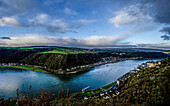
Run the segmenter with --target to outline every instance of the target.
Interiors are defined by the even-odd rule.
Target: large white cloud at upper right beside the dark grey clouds
[[[128,26],[124,32],[119,34],[120,36],[124,36],[124,38],[138,36],[162,27],[150,15],[145,14],[145,10],[141,10],[140,6],[141,4],[137,4],[123,8],[116,12],[116,16],[108,20],[116,27]]]

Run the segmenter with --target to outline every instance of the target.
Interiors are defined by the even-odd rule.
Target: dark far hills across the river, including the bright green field
[[[120,53],[125,53],[120,55]],[[143,57],[165,58],[162,52],[137,52],[113,49],[80,49],[64,47],[20,47],[1,48],[0,63],[27,63],[39,65],[48,69],[66,69],[79,65],[92,64],[103,57]]]

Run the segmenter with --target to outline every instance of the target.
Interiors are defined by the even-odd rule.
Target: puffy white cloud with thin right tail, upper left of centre
[[[67,21],[66,23],[62,19],[53,18],[47,14],[38,14],[35,18],[30,19],[29,22],[31,26],[43,27],[52,33],[77,33],[74,31],[75,29],[96,22],[96,20],[80,19],[76,21]]]

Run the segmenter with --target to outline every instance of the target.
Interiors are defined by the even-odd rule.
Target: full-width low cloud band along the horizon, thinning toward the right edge
[[[136,45],[123,44],[120,42],[123,41],[124,38],[120,36],[90,36],[87,38],[76,39],[27,34],[23,37],[10,37],[10,39],[11,40],[0,39],[0,46],[142,47],[170,49],[170,43]]]

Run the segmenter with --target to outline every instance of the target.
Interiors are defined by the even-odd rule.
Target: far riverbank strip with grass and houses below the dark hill
[[[121,58],[110,58],[110,57],[107,57],[107,58],[109,58],[109,60],[106,60],[106,58],[103,58],[104,60],[101,60],[94,64],[72,67],[72,68],[66,69],[66,70],[47,69],[46,67],[28,65],[28,64],[23,64],[23,63],[1,63],[0,67],[11,67],[11,68],[26,69],[26,70],[51,73],[51,74],[66,74],[66,75],[68,75],[68,74],[77,74],[77,73],[89,71],[90,69],[92,69],[94,67],[101,66],[104,64],[108,64],[108,63],[117,63],[117,62],[124,61],[124,60],[136,59],[136,58],[122,58],[121,59]]]

